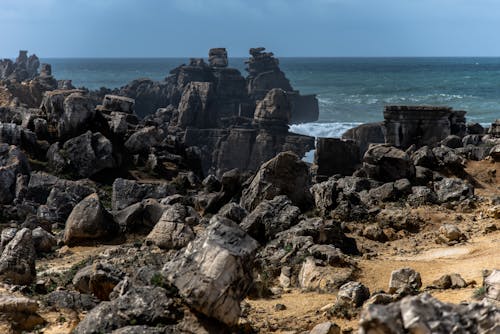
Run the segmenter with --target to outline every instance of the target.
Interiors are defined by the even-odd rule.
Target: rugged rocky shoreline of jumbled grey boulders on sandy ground
[[[0,61],[0,331],[497,333],[495,256],[482,282],[424,286],[404,261],[383,291],[367,275],[483,236],[494,250],[500,119],[387,106],[315,139],[289,125],[317,120],[316,97],[264,48],[247,65],[217,48],[163,81],[89,91],[25,51]],[[474,286],[478,301],[434,296]],[[259,301],[296,291],[333,301],[312,323],[262,320]]]

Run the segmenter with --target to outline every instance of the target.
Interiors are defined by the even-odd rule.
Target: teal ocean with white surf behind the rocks
[[[230,66],[246,76],[246,58]],[[116,88],[136,78],[163,80],[188,58],[42,59],[57,79],[77,87]],[[302,94],[317,94],[320,117],[292,125],[296,133],[338,137],[381,121],[385,105],[444,105],[467,111],[467,120],[500,118],[500,58],[280,58],[281,69]]]

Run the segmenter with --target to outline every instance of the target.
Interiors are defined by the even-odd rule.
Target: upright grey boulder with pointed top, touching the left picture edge
[[[29,285],[36,277],[36,251],[31,231],[23,228],[7,244],[0,257],[0,280]]]

